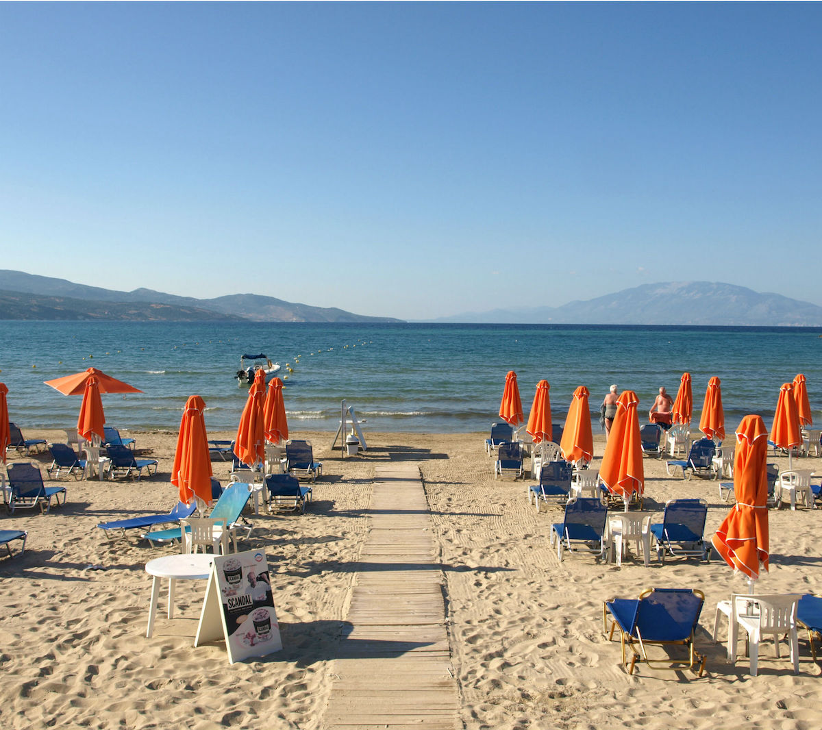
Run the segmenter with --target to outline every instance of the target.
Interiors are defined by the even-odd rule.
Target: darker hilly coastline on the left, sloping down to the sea
[[[0,270],[0,320],[159,320],[399,322],[336,307],[311,307],[259,294],[213,299],[135,289],[122,292],[64,279]]]

